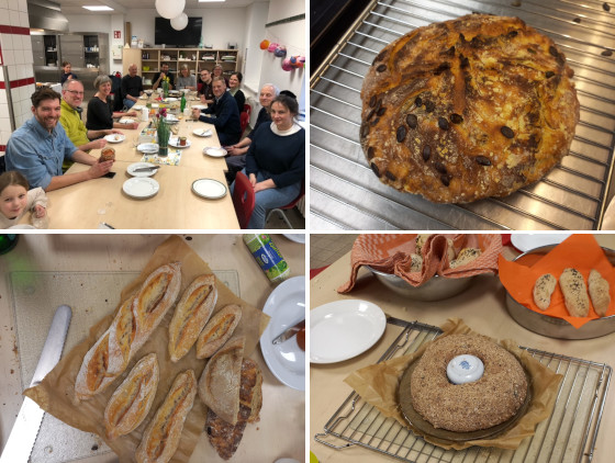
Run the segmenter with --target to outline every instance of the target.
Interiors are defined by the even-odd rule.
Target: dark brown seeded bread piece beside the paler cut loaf
[[[211,409],[205,420],[205,432],[217,454],[228,460],[237,451],[244,437],[246,424],[259,420],[262,405],[262,375],[255,361],[244,359],[239,387],[239,414],[237,422],[230,425]]]

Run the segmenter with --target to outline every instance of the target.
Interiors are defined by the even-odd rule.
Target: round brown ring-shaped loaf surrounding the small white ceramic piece
[[[457,355],[478,357],[482,377],[452,384],[447,365]],[[433,341],[411,376],[414,409],[435,428],[470,432],[512,418],[524,404],[527,380],[519,361],[506,349],[478,335],[450,335]]]

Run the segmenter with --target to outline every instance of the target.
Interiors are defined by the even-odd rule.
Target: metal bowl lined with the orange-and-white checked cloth
[[[452,279],[434,275],[421,286],[413,286],[395,274],[384,273],[369,266],[366,267],[382,282],[382,284],[384,284],[384,286],[402,296],[415,301],[441,301],[455,296],[466,290],[474,278],[466,276]]]

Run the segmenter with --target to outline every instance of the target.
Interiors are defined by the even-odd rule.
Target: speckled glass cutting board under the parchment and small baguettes
[[[231,291],[239,295],[239,279],[236,270],[213,272]],[[19,271],[9,273],[22,391],[32,381],[55,309],[62,304],[72,309],[64,347],[66,353],[88,336],[92,325],[118,306],[121,289],[139,273]],[[110,292],[109,289],[116,289],[116,291]],[[113,454],[97,434],[80,431],[45,414],[30,462],[71,462],[105,453]]]

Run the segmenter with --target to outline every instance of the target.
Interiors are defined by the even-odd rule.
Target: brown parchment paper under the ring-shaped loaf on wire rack
[[[476,334],[459,318],[449,318],[441,326],[444,330],[440,336],[454,334]],[[462,450],[472,445],[497,447],[501,449],[516,449],[523,439],[534,434],[536,426],[548,418],[554,409],[562,375],[555,373],[543,365],[532,355],[519,349],[513,340],[492,341],[508,350],[527,369],[532,377],[532,403],[526,414],[504,433],[494,439],[482,439],[467,442],[451,442],[425,436],[410,425],[403,417],[398,402],[398,385],[403,372],[410,363],[421,357],[425,349],[433,342],[425,342],[421,348],[409,355],[398,357],[376,365],[366,366],[351,373],[344,381],[350,385],[368,404],[377,407],[384,416],[396,419],[402,426],[409,428],[417,436],[422,436],[427,442],[444,449]],[[407,392],[410,393],[410,392]]]

